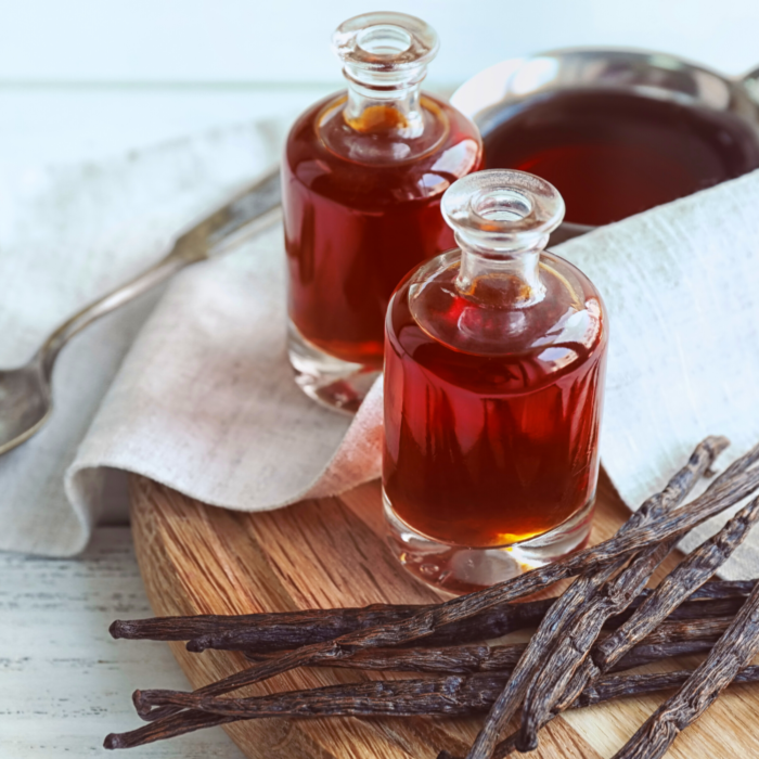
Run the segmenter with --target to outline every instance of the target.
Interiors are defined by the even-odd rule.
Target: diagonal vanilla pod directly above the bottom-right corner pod
[[[651,632],[683,599],[687,597],[692,590],[706,582],[744,541],[758,518],[759,499],[755,499],[730,519],[717,535],[685,556],[645,599],[632,617],[615,633],[602,641],[592,658],[584,661],[582,660],[584,657],[579,652],[587,652],[588,646],[586,639],[578,633],[571,641],[574,655],[568,654],[565,662],[551,662],[540,673],[540,686],[536,681],[535,697],[525,702],[517,741],[519,750],[535,749],[538,744],[538,731],[562,710],[561,705],[574,702],[575,696],[592,681],[594,673],[608,671],[625,652]],[[563,677],[553,677],[558,669],[562,670]],[[578,680],[573,682],[575,677],[578,677]],[[555,708],[556,706],[558,709]]]

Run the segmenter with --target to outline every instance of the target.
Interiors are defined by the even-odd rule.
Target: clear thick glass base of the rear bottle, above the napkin
[[[355,414],[381,371],[375,366],[343,361],[309,343],[290,322],[287,355],[298,387],[318,403]]]

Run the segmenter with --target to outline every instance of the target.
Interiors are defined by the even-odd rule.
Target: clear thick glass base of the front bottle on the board
[[[584,548],[590,537],[595,494],[573,517],[537,538],[512,545],[469,549],[438,543],[411,529],[394,512],[383,490],[387,541],[403,567],[437,590],[454,595],[510,580]]]

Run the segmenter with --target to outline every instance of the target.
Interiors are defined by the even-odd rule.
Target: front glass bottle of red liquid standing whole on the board
[[[465,592],[586,543],[607,326],[593,284],[543,249],[564,216],[552,184],[480,171],[442,215],[459,248],[387,312],[383,491],[400,561]]]

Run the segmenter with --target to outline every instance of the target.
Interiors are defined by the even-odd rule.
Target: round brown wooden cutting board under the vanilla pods
[[[382,539],[377,484],[342,498],[275,512],[242,514],[193,501],[133,476],[132,526],[138,561],[156,615],[427,603],[439,596],[409,577]],[[602,476],[592,540],[612,535],[628,511]],[[677,563],[670,557],[666,570]],[[662,570],[664,571],[664,570]],[[170,644],[194,687],[242,669],[242,655],[189,654]],[[697,658],[648,671],[694,667]],[[249,695],[389,678],[381,672],[301,669],[248,689]],[[146,682],[145,687],[162,687]],[[648,696],[568,712],[541,732],[541,759],[610,757],[664,700]],[[735,686],[674,743],[669,759],[759,757],[759,687]],[[224,728],[250,759],[435,759],[463,755],[476,719],[267,719]],[[137,726],[137,724],[136,724]],[[176,738],[177,754],[182,738]],[[139,749],[138,749],[139,750]]]

